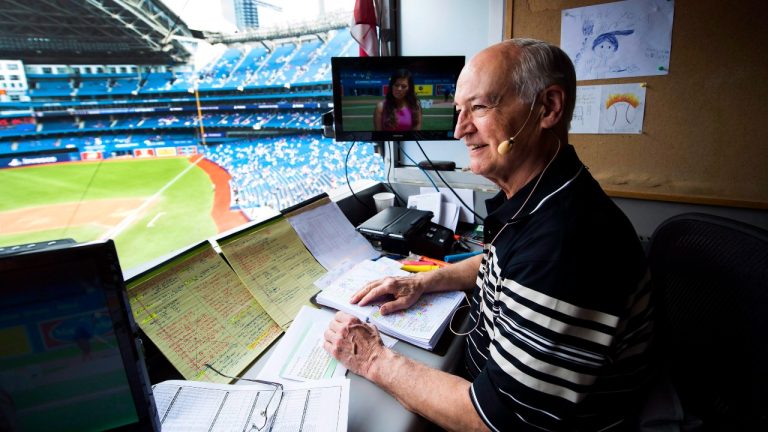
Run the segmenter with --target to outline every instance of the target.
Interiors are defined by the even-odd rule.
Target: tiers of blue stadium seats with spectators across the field
[[[319,134],[327,109],[318,102],[331,96],[330,58],[356,55],[353,47],[349,31],[341,29],[323,38],[230,47],[197,71],[35,76],[30,107],[67,111],[3,127],[0,155],[66,149],[74,159],[202,153],[231,174],[232,206],[248,215],[264,206],[289,207],[344,185],[347,176],[382,180],[383,161],[371,146],[355,146],[345,172],[348,146]],[[212,137],[208,145],[199,138],[190,94],[195,86]]]

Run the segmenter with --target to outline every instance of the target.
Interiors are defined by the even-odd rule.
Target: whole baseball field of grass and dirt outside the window
[[[123,270],[247,222],[206,159],[110,159],[0,170],[0,245],[112,238]]]

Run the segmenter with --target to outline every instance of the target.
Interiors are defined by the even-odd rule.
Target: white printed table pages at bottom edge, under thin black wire
[[[347,430],[347,379],[286,385],[282,393],[262,384],[175,380],[152,391],[163,432]]]

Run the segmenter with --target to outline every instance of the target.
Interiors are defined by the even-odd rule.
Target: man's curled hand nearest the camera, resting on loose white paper
[[[352,372],[369,378],[371,366],[386,349],[376,326],[337,312],[323,334],[323,348]]]

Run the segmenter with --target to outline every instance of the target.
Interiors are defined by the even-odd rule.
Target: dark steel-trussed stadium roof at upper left
[[[160,0],[3,0],[0,58],[25,63],[176,64],[187,25]]]

